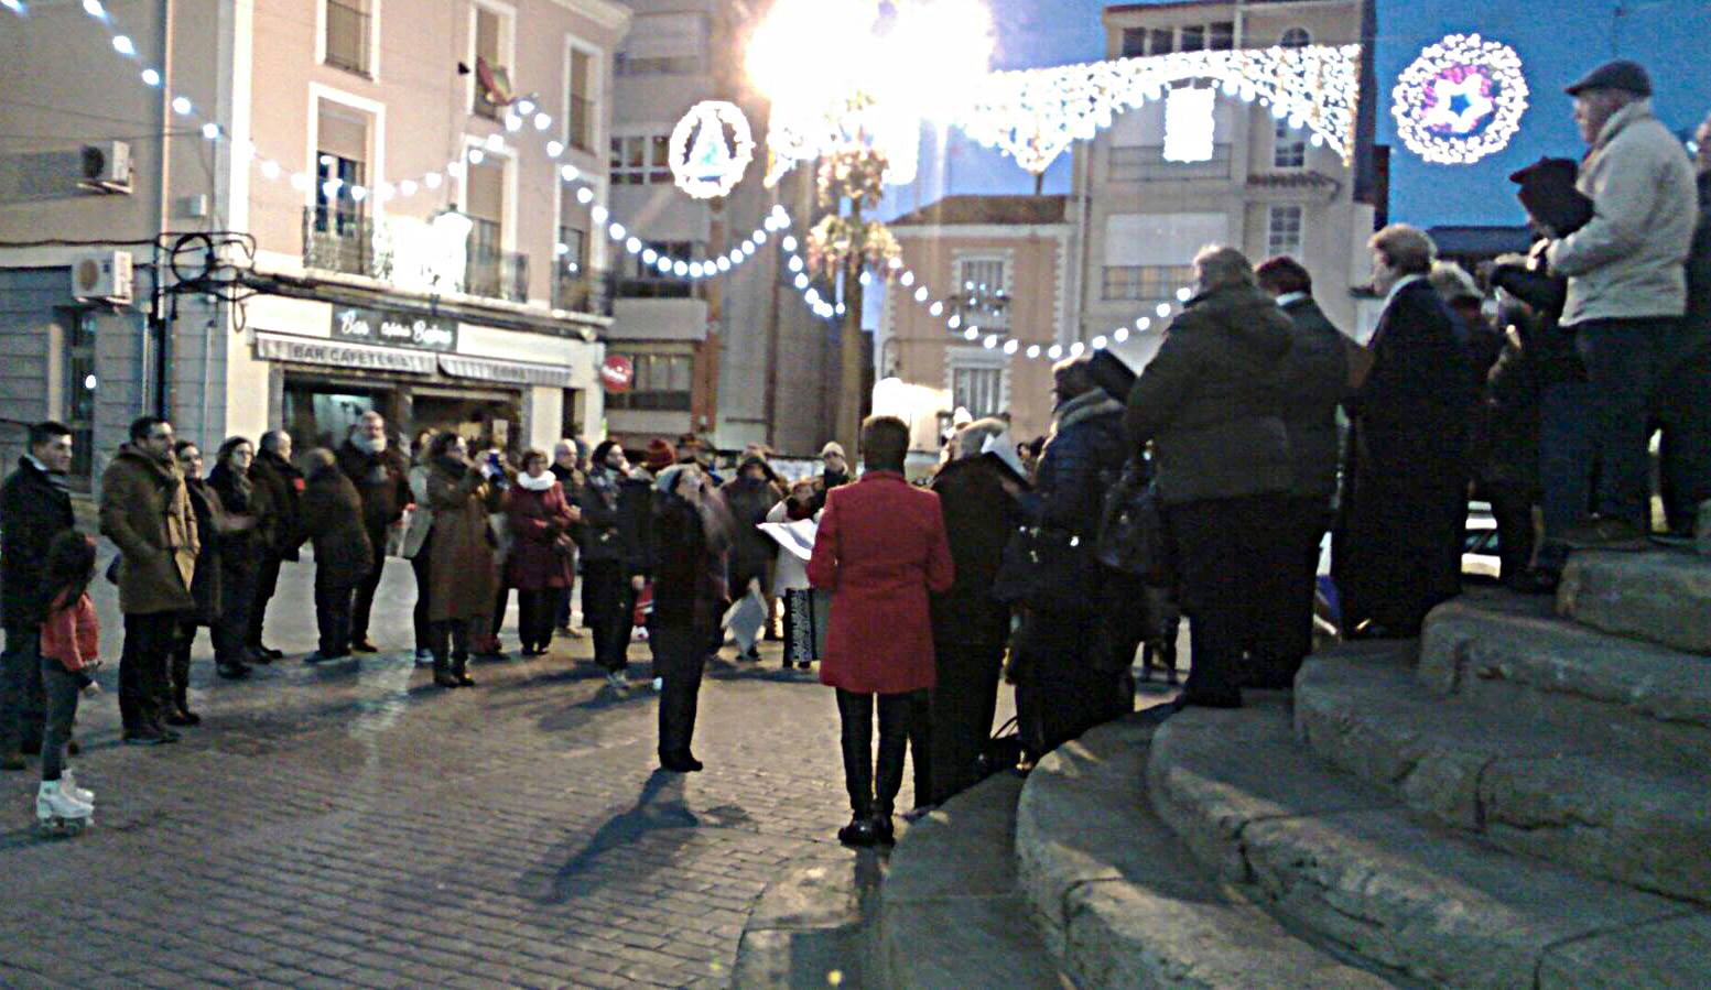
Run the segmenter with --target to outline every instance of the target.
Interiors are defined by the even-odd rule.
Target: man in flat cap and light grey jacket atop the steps
[[[1591,149],[1578,188],[1593,200],[1593,217],[1572,234],[1555,231],[1547,258],[1569,279],[1562,327],[1574,333],[1588,383],[1572,431],[1579,450],[1542,463],[1545,533],[1555,554],[1643,549],[1651,523],[1648,404],[1687,308],[1694,169],[1651,113],[1651,79],[1637,63],[1600,65],[1567,92]]]

